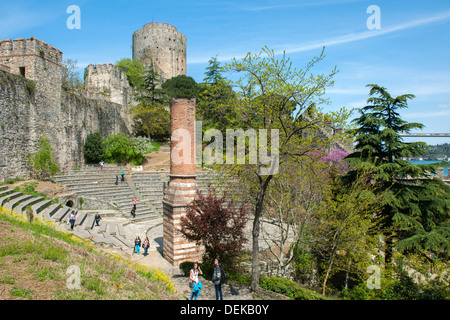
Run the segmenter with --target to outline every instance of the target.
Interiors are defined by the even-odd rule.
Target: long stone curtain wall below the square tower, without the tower
[[[58,103],[39,92],[37,82],[0,70],[0,182],[29,178],[27,154],[45,135],[63,173],[84,163],[83,144],[90,132],[103,137],[127,132],[121,105],[88,99],[60,89]]]

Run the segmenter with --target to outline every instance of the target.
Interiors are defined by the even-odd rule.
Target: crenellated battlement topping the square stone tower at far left
[[[17,38],[15,40],[5,39],[0,41],[0,57],[15,58],[35,56],[55,64],[62,64],[62,52],[44,41],[35,37],[28,39]]]

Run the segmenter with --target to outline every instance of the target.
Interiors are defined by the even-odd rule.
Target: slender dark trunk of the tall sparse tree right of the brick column
[[[255,218],[253,220],[252,230],[252,283],[251,290],[253,292],[259,289],[259,231],[260,219],[263,211],[264,196],[266,194],[267,186],[273,176],[267,176],[265,179],[260,178],[260,187],[256,196],[255,204]]]

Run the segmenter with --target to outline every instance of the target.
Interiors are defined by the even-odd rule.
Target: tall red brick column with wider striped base
[[[170,101],[170,179],[163,197],[163,256],[174,266],[200,261],[203,249],[180,232],[186,206],[197,192],[195,165],[195,99]]]

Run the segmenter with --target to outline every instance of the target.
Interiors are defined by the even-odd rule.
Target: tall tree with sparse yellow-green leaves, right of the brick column
[[[278,58],[273,50],[265,47],[260,54],[249,53],[240,61],[233,59],[223,68],[224,72],[243,74],[233,84],[240,90],[234,103],[239,112],[238,118],[242,119],[241,128],[268,129],[269,132],[271,129],[278,130],[278,137],[274,136],[275,140],[271,139],[266,148],[277,149],[276,141],[279,141],[279,159],[273,161],[273,167],[268,168],[267,162],[261,161],[261,158],[256,164],[231,166],[233,174],[239,176],[240,189],[248,195],[245,200],[252,206],[253,291],[259,286],[260,219],[264,213],[267,189],[276,175],[275,166],[288,166],[290,162],[298,161],[328,143],[328,139],[304,134],[318,130],[327,117],[317,112],[318,108],[310,108],[327,103],[327,99],[323,98],[325,88],[333,84],[332,78],[337,72],[333,70],[330,74],[310,75],[310,69],[323,58],[322,51],[305,69],[297,70],[285,55]],[[306,110],[310,112],[308,119],[302,117]],[[227,159],[227,162],[233,162],[233,159]],[[225,165],[220,169],[228,170]]]

